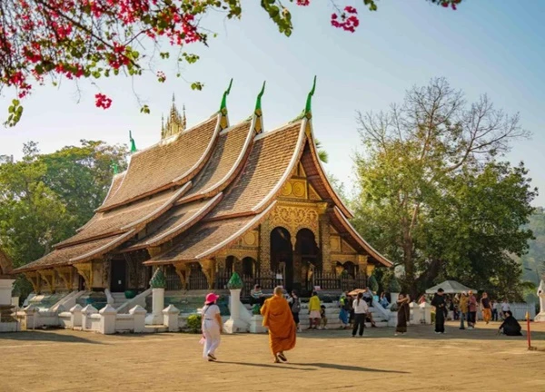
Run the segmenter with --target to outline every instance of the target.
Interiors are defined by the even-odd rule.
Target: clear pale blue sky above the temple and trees
[[[272,129],[301,112],[317,74],[314,131],[330,154],[327,170],[350,188],[352,156],[360,144],[356,111],[387,110],[411,85],[445,76],[469,101],[488,93],[497,107],[520,112],[521,125],[533,136],[515,142],[507,159],[526,163],[533,184],[542,190],[535,204],[545,205],[545,2],[464,0],[451,11],[424,0],[384,0],[376,13],[366,11],[361,0],[337,2],[358,6],[361,25],[355,34],[329,25],[332,6],[325,0],[293,7],[290,38],[277,32],[257,1],[243,2],[241,21],[207,17],[203,25],[219,36],[209,48],[188,46],[202,59],[183,69],[187,81],[205,83],[202,92],[175,78],[175,64],[162,60],[154,67],[167,74],[166,83],[157,83],[153,73],[134,81],[101,79],[98,86],[83,82],[79,103],[70,81],[60,89],[38,87],[24,102],[23,120],[0,129],[0,154],[19,158],[22,144],[30,140],[39,142],[42,152],[80,139],[126,143],[129,130],[137,147],[144,148],[159,140],[161,113],[168,113],[173,93],[180,106],[185,103],[189,124],[195,124],[218,110],[232,77],[231,122],[252,113],[266,80],[263,113],[265,128]],[[114,100],[111,109],[94,107],[99,90]],[[134,91],[151,114],[139,113]],[[11,99],[7,93],[0,97],[2,111]]]

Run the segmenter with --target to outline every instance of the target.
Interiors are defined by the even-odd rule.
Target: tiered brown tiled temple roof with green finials
[[[264,132],[263,90],[253,116],[233,126],[227,93],[218,113],[187,130],[185,115],[182,126],[173,108],[170,131],[163,126],[161,142],[133,154],[94,217],[51,253],[15,272],[74,265],[168,241],[172,246],[144,264],[213,257],[266,219],[298,164],[316,198],[327,203],[342,238],[372,262],[391,266],[352,228],[352,213],[327,180],[312,134],[310,103],[300,119]]]

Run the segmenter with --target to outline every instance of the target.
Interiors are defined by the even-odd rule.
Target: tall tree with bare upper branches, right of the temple
[[[526,250],[531,233],[520,225],[537,193],[523,166],[496,162],[529,136],[518,114],[495,109],[486,95],[468,105],[440,78],[413,87],[389,113],[359,113],[359,125],[365,153],[356,157],[354,223],[403,267],[412,296],[440,276],[484,284],[475,274],[500,276],[500,267],[486,270],[491,259],[505,267],[506,252]]]

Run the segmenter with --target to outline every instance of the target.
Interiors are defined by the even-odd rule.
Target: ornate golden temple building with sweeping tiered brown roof
[[[391,266],[352,227],[312,132],[312,92],[302,115],[263,127],[253,114],[231,124],[220,110],[191,128],[175,108],[161,141],[134,152],[103,204],[77,233],[15,273],[36,293],[143,291],[162,268],[167,290],[223,289],[233,271],[246,289],[302,292],[365,286]]]

